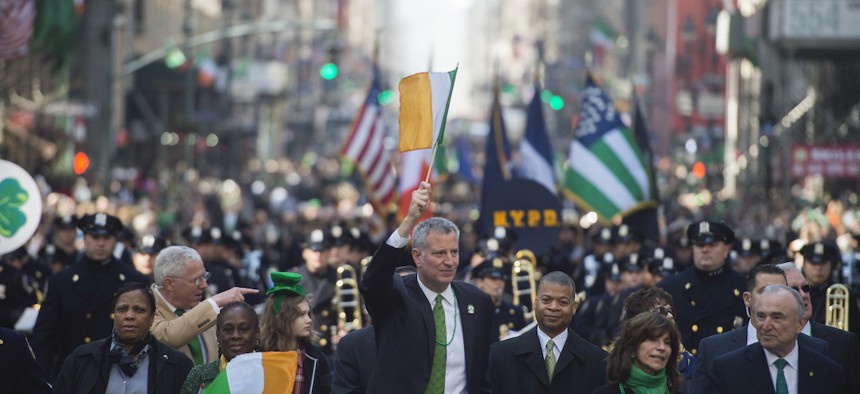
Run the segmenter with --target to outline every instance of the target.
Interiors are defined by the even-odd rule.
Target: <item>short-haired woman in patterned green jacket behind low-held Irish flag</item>
[[[260,350],[260,325],[254,308],[234,301],[221,308],[215,323],[218,338],[218,361],[196,365],[188,373],[182,394],[202,392],[234,357]]]

